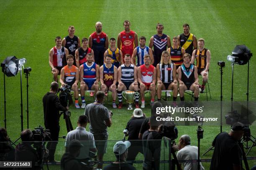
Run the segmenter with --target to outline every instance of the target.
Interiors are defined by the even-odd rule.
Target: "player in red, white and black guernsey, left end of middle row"
[[[58,75],[61,68],[67,65],[66,55],[69,55],[67,48],[61,46],[61,37],[55,38],[56,46],[49,51],[49,65],[54,81],[58,82]]]

